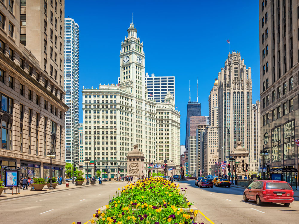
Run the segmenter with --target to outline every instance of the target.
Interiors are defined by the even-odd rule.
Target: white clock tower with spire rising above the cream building
[[[144,51],[143,42],[137,38],[137,29],[130,24],[128,36],[121,41],[120,50],[120,86],[132,93],[137,99],[145,99]]]

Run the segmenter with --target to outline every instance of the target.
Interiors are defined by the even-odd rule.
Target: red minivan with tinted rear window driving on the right
[[[244,201],[257,201],[257,205],[262,205],[263,202],[283,203],[289,206],[294,201],[294,191],[291,186],[281,180],[256,180],[248,187],[244,186],[243,193]]]

